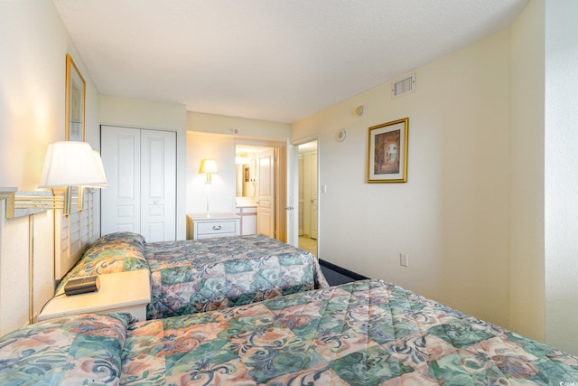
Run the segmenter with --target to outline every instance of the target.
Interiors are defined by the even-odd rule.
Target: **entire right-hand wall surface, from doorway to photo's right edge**
[[[321,138],[321,258],[578,353],[577,6],[530,2],[417,69],[415,94],[386,84],[294,124],[294,142]],[[409,182],[364,184],[368,127],[405,117]]]

